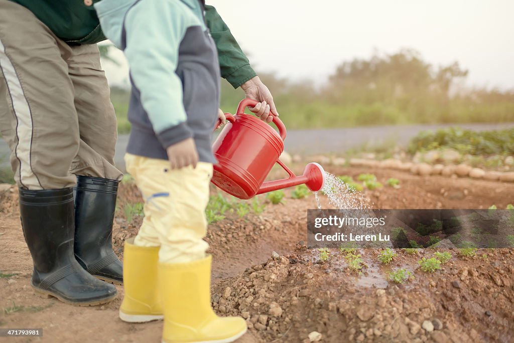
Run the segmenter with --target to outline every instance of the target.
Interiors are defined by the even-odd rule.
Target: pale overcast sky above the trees
[[[512,0],[207,0],[258,70],[321,84],[337,65],[401,48],[458,61],[468,85],[514,89]],[[120,52],[115,53],[122,59]],[[127,68],[104,63],[112,84]]]

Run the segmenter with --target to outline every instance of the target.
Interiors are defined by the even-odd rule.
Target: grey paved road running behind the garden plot
[[[421,130],[437,129],[455,126],[455,124],[427,124],[427,125],[388,125],[366,126],[335,129],[290,130],[287,132],[285,149],[291,154],[325,154],[340,153],[348,148],[362,146],[363,144],[378,145],[381,143],[396,143],[406,145],[409,140]],[[514,128],[514,123],[501,124],[458,124],[462,128],[475,131]],[[128,136],[120,135],[116,144],[116,163],[124,168],[123,154]],[[9,156],[9,148],[3,139],[0,139],[0,157]],[[0,166],[8,165],[6,158],[0,160]]]

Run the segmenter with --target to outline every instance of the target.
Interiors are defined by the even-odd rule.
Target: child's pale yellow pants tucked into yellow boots
[[[205,258],[212,163],[171,170],[168,161],[126,154],[125,165],[144,199],[144,219],[134,244],[160,246],[162,263]]]

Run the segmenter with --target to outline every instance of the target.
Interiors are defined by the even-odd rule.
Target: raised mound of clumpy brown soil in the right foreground
[[[360,253],[364,262],[376,257]],[[264,341],[308,342],[311,332],[327,342],[512,341],[514,251],[482,253],[487,259],[454,257],[442,271],[416,270],[415,281],[376,289],[361,287],[338,253],[319,263],[301,247],[218,283],[213,307],[243,316]],[[418,258],[400,253],[393,266],[415,269]]]

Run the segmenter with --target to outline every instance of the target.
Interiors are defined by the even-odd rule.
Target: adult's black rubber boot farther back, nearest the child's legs
[[[123,284],[123,264],[113,251],[113,220],[119,181],[77,176],[75,257],[91,275]]]

